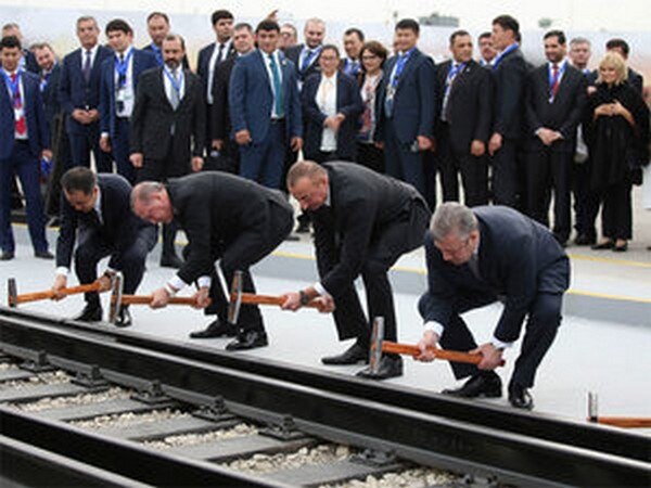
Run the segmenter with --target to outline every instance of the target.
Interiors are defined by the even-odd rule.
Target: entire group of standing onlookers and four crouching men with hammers
[[[273,16],[253,27],[217,10],[210,23],[215,41],[201,49],[195,69],[162,12],[148,16],[143,49],[125,20],[104,26],[104,46],[95,18],[81,16],[79,48],[62,60],[47,42],[24,46],[16,24],[3,26],[0,259],[15,255],[16,177],[35,256],[56,258],[58,292],[73,256],[80,282],[106,287],[123,270],[135,292],[161,223],[161,265],[179,271],[152,306],[194,282],[197,306],[217,317],[192,337],[235,337],[231,350],[263,347],[257,307],[243,306],[239,322],[228,321],[214,262],[227,286],[239,270],[254,292],[248,268],[292,232],[291,194],[303,210],[297,232],[314,228],[320,282],[288,293],[283,307],[320,300],[340,338],[356,337],[324,363],[365,361],[373,317],[396,338],[387,271],[426,234],[430,288],[420,309],[430,325],[420,359],[432,359],[426,347],[439,338],[476,348],[459,313],[506,294],[494,342],[476,348],[484,362],[456,368],[471,380],[451,393],[501,395],[499,378],[482,370],[499,363],[528,316],[509,398],[531,408],[527,388],[560,323],[573,226],[573,243],[596,249],[625,252],[633,237],[631,185],[649,162],[649,108],[642,77],[626,64],[626,41],[610,40],[590,72],[590,41],[567,41],[561,30],[544,35],[547,61],[532,66],[510,15],[478,36],[477,59],[473,37],[454,31],[441,64],[419,50],[420,26],[410,18],[395,24],[388,48],[352,27],[343,51],[326,43],[319,18],[305,23],[304,43],[295,26]],[[461,197],[465,205],[442,204]],[[46,215],[61,223],[56,256]],[[189,240],[183,257],[175,248],[179,228]],[[106,255],[108,270],[98,279]],[[358,275],[366,314],[353,285]],[[97,293],[87,294],[79,319],[101,314]],[[117,323],[131,323],[128,308]],[[379,370],[361,374],[397,376],[400,358],[386,355]]]

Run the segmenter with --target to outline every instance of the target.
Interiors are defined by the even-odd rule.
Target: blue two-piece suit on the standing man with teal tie
[[[280,54],[284,116],[271,119],[273,92],[263,53],[242,56],[234,65],[229,87],[233,134],[248,130],[252,142],[240,145],[240,176],[279,189],[291,138],[303,137],[301,100],[294,63]]]

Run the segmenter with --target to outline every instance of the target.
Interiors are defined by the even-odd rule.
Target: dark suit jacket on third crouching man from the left
[[[336,297],[359,275],[368,249],[382,230],[408,218],[413,202],[425,208],[426,204],[413,187],[361,165],[334,162],[322,166],[328,170],[330,205],[308,214],[315,228],[321,284]],[[421,231],[400,237],[412,243],[412,248],[422,243]]]

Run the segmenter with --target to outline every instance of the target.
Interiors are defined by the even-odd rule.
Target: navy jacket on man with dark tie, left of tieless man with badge
[[[61,81],[59,84],[59,101],[67,115],[66,130],[68,133],[86,133],[87,126],[79,124],[71,117],[75,108],[98,108],[100,105],[100,74],[102,63],[111,57],[113,51],[104,46],[98,47],[98,52],[92,63],[88,84],[81,72],[81,48],[67,54],[62,62]]]

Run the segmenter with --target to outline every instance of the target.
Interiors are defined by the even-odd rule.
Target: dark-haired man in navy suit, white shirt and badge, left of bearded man
[[[156,57],[133,48],[133,30],[122,18],[111,21],[105,30],[114,54],[102,64],[100,147],[112,153],[117,172],[132,184],[136,169],[129,160],[129,118],[140,75],[156,67]]]

